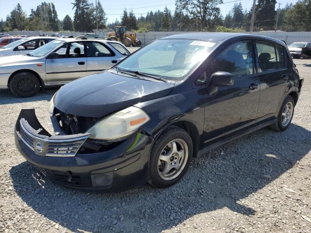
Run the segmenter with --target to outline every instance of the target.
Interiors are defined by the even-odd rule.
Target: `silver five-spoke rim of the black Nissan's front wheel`
[[[185,168],[189,149],[182,139],[170,141],[162,149],[157,163],[159,176],[166,181],[175,179]]]

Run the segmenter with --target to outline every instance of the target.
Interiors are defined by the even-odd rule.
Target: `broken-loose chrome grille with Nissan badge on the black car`
[[[17,118],[17,136],[40,156],[75,156],[89,137],[89,133],[67,135],[59,130],[54,129],[59,135],[47,132],[36,118],[34,109],[22,109]]]

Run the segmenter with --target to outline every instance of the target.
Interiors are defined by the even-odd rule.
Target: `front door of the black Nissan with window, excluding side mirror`
[[[259,79],[253,42],[244,40],[226,46],[208,67],[207,77],[217,71],[232,73],[234,84],[218,87],[216,93],[206,95],[206,143],[255,123],[257,118]]]

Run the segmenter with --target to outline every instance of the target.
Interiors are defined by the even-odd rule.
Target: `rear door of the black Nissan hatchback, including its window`
[[[256,41],[260,84],[259,120],[274,117],[289,85],[285,48],[265,41]]]

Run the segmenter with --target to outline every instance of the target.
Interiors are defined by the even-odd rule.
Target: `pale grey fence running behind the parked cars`
[[[11,31],[7,32],[11,35],[52,35],[53,32],[40,32],[40,31]],[[143,45],[148,44],[149,42],[159,39],[168,35],[180,34],[180,33],[194,33],[194,32],[148,32],[148,33],[137,33],[137,37],[141,40]],[[81,34],[79,32],[59,32],[60,35],[77,35]],[[106,36],[107,32],[97,32],[96,34],[100,36]],[[252,32],[252,34],[270,36],[279,40],[286,41],[286,44],[291,44],[293,42],[302,42],[307,41],[311,42],[311,32],[280,32],[280,31],[270,31],[270,32]]]

